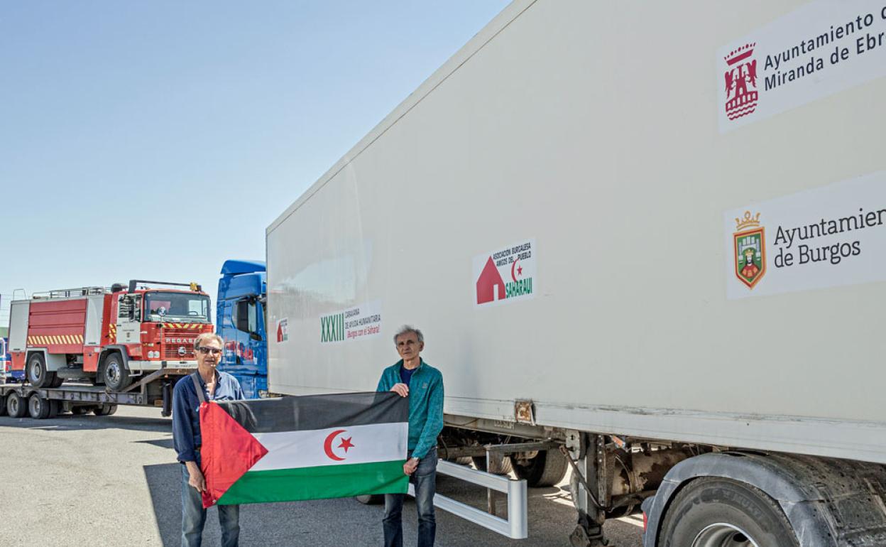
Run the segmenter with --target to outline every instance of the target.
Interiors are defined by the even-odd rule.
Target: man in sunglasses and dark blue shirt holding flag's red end
[[[206,480],[200,471],[200,402],[245,399],[236,378],[215,370],[222,348],[224,340],[218,334],[200,334],[194,340],[197,373],[178,380],[172,395],[173,443],[182,463],[182,547],[199,547],[206,523],[201,496]],[[219,505],[218,511],[221,545],[235,547],[240,536],[240,506]]]

